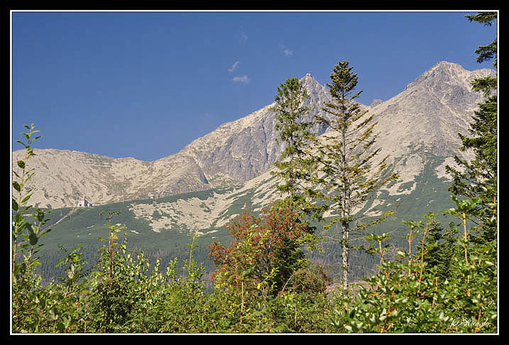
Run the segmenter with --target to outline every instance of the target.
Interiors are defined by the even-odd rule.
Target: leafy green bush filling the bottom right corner
[[[429,265],[428,222],[406,222],[422,231],[420,253],[398,251],[397,261],[383,261],[380,272],[365,279],[367,286],[344,310],[336,310],[338,332],[477,333],[497,332],[497,269],[494,243],[479,245],[459,237],[451,268],[439,273]],[[411,248],[411,247],[410,247]],[[436,258],[433,258],[436,259]],[[429,265],[429,266],[428,266]],[[444,281],[439,281],[444,279]]]

